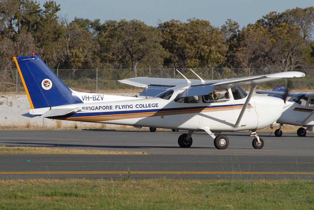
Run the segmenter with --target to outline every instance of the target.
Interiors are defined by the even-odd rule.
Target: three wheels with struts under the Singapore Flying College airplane
[[[229,139],[227,136],[225,135],[218,135],[215,136],[209,129],[204,129],[213,139],[214,139],[214,146],[218,149],[218,150],[224,150],[229,146]],[[178,144],[180,147],[182,148],[188,148],[192,145],[192,134],[193,131],[189,131],[187,134],[181,134],[178,138]],[[254,149],[262,149],[264,146],[264,141],[262,138],[260,138],[257,135],[256,130],[252,131],[252,133],[250,134],[250,136],[254,136],[254,139],[252,141],[252,146],[254,147]]]

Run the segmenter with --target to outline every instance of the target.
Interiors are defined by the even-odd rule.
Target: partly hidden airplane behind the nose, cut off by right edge
[[[285,109],[277,120],[279,129],[275,136],[282,135],[284,124],[302,126],[297,130],[298,136],[306,136],[306,131],[314,126],[314,93],[292,93],[286,87],[277,86],[273,91],[258,90],[257,93],[270,94],[271,96],[291,97],[287,102],[289,108]],[[305,127],[305,128],[303,128]]]

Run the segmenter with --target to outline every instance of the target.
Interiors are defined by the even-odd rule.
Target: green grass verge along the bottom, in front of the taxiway
[[[0,209],[313,209],[314,181],[0,180]]]

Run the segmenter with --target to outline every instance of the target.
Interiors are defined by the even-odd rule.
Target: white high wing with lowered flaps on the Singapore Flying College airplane
[[[274,74],[265,74],[258,76],[248,76],[240,78],[232,78],[225,80],[185,80],[185,79],[169,79],[169,78],[152,78],[152,77],[135,77],[124,80],[118,80],[119,82],[133,85],[136,87],[146,87],[144,93],[145,96],[156,96],[159,93],[165,92],[173,87],[181,87],[186,89],[181,97],[206,95],[215,89],[223,87],[232,87],[236,85],[257,85],[261,82],[274,81],[279,79],[288,78],[300,78],[305,76],[303,72],[288,71]]]

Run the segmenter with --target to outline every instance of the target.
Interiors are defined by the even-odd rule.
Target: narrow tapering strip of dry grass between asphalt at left
[[[145,152],[0,146],[0,154],[147,155]]]

